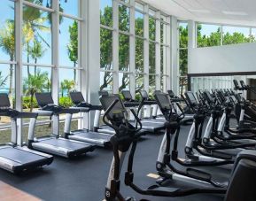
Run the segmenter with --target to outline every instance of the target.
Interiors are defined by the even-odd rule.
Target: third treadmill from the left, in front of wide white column
[[[85,143],[93,143],[101,147],[110,147],[111,146],[110,138],[112,135],[89,130],[89,112],[91,111],[100,112],[102,110],[102,106],[86,103],[81,92],[71,92],[70,97],[74,104],[74,108],[78,109],[80,112],[83,113],[83,128],[67,132],[65,134],[66,138],[85,142]],[[66,118],[67,118],[66,127],[67,127],[67,130],[70,130],[72,114],[67,114]],[[86,125],[87,125],[87,128],[85,128]]]

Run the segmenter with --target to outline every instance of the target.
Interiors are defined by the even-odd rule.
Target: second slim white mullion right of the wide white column
[[[130,66],[130,92],[133,97],[136,95],[136,23],[135,23],[135,0],[130,0],[130,36],[129,36],[129,66]]]

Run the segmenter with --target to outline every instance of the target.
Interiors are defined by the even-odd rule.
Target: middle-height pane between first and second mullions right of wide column
[[[129,36],[119,35],[119,70],[129,70]]]

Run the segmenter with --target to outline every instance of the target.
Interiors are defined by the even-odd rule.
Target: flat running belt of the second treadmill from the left
[[[80,149],[91,146],[91,144],[89,143],[79,143],[79,142],[76,143],[76,142],[72,142],[66,139],[61,139],[61,138],[43,139],[39,141],[39,143],[50,144],[55,147],[66,148],[69,150],[80,150]]]

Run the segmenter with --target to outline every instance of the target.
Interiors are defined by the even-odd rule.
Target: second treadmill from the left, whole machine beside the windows
[[[63,138],[59,135],[59,114],[74,114],[79,110],[74,108],[64,108],[54,104],[50,93],[35,93],[37,104],[40,106],[38,114],[49,116],[53,119],[52,135],[36,139],[34,133],[28,135],[28,147],[36,150],[51,153],[60,157],[74,158],[94,151],[95,145],[82,143]],[[66,129],[66,127],[65,127]],[[65,130],[65,133],[68,131]]]

